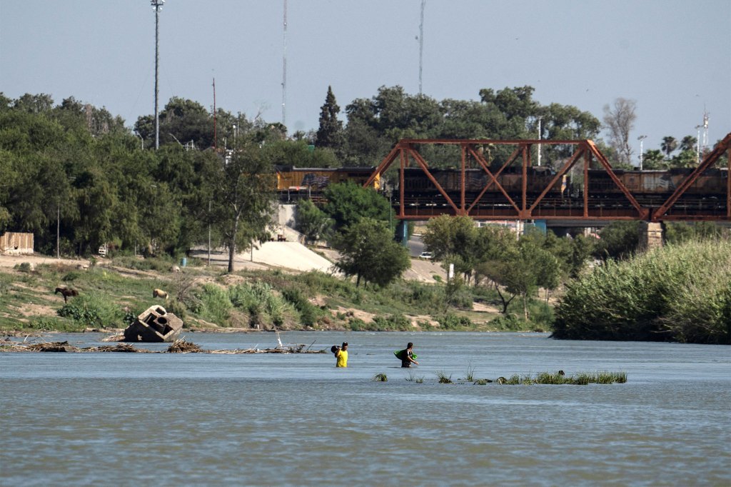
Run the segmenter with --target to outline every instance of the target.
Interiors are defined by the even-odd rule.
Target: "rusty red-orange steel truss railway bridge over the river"
[[[420,154],[423,146],[456,146],[459,150],[459,166],[452,168],[456,185],[445,187],[439,181],[439,170],[429,166]],[[510,146],[512,154],[499,168],[491,169],[481,148],[485,146]],[[573,154],[555,173],[544,172],[539,177],[531,162],[533,146],[573,146]],[[510,149],[509,147],[509,149]],[[398,164],[398,201],[392,200],[396,217],[401,220],[425,220],[442,214],[470,216],[484,220],[621,220],[634,219],[645,222],[670,220],[694,221],[712,220],[731,222],[731,133],[719,142],[713,151],[702,159],[692,172],[683,173],[678,181],[666,188],[661,198],[648,202],[637,189],[631,190],[621,177],[622,171],[615,171],[606,157],[591,140],[451,140],[451,139],[404,139],[398,142],[390,153],[376,167],[364,186],[371,186],[389,167]],[[692,192],[694,200],[706,197],[697,186],[703,174],[715,167],[721,157],[727,154],[725,188],[716,192],[713,201],[688,205]],[[520,169],[518,169],[520,163]],[[590,167],[594,164],[594,169]],[[468,167],[468,165],[470,167]],[[581,190],[575,195],[566,195],[565,176],[572,168],[583,169],[581,181],[574,178],[574,186]],[[596,170],[599,168],[599,171]],[[510,168],[510,169],[509,169]],[[420,171],[419,171],[420,169]],[[427,178],[433,198],[418,201],[405,188],[405,174],[417,171],[421,178]],[[518,186],[507,187],[505,178],[512,172],[518,178]],[[574,173],[577,171],[575,170]],[[592,193],[590,173],[598,174],[613,185],[616,195],[608,200],[598,192]],[[482,187],[474,187],[475,175],[479,175]],[[619,175],[618,175],[619,174]],[[608,179],[607,179],[608,178]],[[425,181],[425,180],[424,180]],[[514,180],[515,181],[515,180]],[[719,178],[716,178],[718,184]],[[723,184],[723,183],[721,183]],[[471,186],[470,186],[471,185]],[[469,189],[468,189],[468,186]],[[724,191],[725,189],[725,191]],[[725,193],[725,194],[724,194]],[[488,195],[488,196],[486,196]],[[669,196],[668,196],[669,195]],[[393,195],[395,197],[395,195]],[[657,197],[657,195],[654,195]],[[690,208],[690,209],[689,209]]]

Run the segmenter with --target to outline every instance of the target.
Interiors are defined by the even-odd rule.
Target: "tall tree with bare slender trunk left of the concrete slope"
[[[229,272],[234,271],[237,249],[268,240],[276,211],[273,167],[257,143],[244,139],[238,138],[230,158],[210,165],[205,178],[209,194],[215,195],[212,219],[228,248]]]

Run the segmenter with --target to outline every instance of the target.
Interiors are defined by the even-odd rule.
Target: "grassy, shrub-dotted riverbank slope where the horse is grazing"
[[[56,287],[77,290],[64,303]],[[167,301],[153,298],[166,290]],[[387,288],[355,287],[318,272],[225,273],[195,259],[176,271],[172,260],[118,257],[79,268],[71,263],[30,265],[18,257],[0,268],[0,331],[120,329],[148,306],[162,304],[186,328],[232,330],[533,331],[545,325],[505,317],[489,290],[451,295],[444,284],[401,281]],[[544,303],[537,316],[550,317]]]

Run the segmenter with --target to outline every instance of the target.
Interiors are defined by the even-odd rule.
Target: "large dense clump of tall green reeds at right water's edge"
[[[568,285],[558,339],[731,343],[731,241],[666,246],[609,260]]]

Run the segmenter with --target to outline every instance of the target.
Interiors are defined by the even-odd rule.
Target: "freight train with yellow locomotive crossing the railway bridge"
[[[278,166],[276,168],[277,191],[282,201],[295,200],[298,197],[320,197],[330,184],[352,181],[363,185],[374,172],[374,167],[338,167],[338,168],[303,168]],[[430,168],[436,180],[453,201],[461,198],[461,172],[457,169]],[[692,169],[676,168],[670,170],[614,170],[614,174],[629,190],[637,203],[647,208],[662,205],[681,184]],[[529,167],[527,169],[526,197],[536,200],[550,184],[556,173],[549,167]],[[371,187],[383,190],[387,187],[398,195],[399,179],[393,178],[393,184],[385,178],[376,176]],[[473,201],[487,186],[490,178],[482,169],[465,170],[465,198]],[[520,201],[523,194],[523,168],[507,167],[497,177],[497,181],[513,201]],[[590,204],[626,205],[627,200],[621,189],[614,183],[610,175],[603,169],[588,170],[588,199]],[[707,208],[708,205],[725,205],[728,191],[728,170],[726,168],[710,168],[705,170],[694,183],[683,193],[681,201]],[[543,198],[553,204],[567,203],[575,205],[583,201],[583,170],[569,171],[551,187]],[[482,194],[480,205],[504,205],[506,198],[503,192],[491,185]],[[404,203],[408,205],[434,205],[444,203],[439,189],[428,178],[420,167],[404,169]]]

